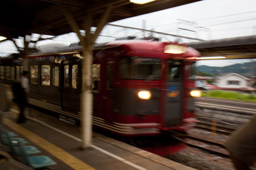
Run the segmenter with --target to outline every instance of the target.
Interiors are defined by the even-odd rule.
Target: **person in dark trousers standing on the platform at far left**
[[[26,123],[26,116],[24,115],[24,110],[27,105],[27,95],[29,94],[29,72],[23,71],[23,76],[20,78],[20,99],[18,100],[18,105],[20,106],[20,116],[17,123]]]

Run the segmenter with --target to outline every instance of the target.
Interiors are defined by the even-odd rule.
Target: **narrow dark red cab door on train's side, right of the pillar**
[[[114,60],[108,59],[105,62],[105,66],[102,70],[104,72],[104,89],[102,92],[102,116],[107,123],[112,123],[113,121],[113,100],[114,100]]]

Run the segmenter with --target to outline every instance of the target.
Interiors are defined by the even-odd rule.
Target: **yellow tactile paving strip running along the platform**
[[[80,161],[76,157],[70,155],[68,152],[65,152],[65,150],[61,149],[60,147],[55,146],[54,144],[48,142],[47,140],[43,139],[42,137],[38,136],[37,134],[24,129],[24,127],[21,127],[14,121],[4,118],[3,122],[13,129],[14,131],[17,131],[18,133],[22,134],[24,137],[27,137],[29,140],[31,140],[33,143],[36,143],[43,149],[45,149],[47,152],[54,155],[56,158],[60,159],[64,163],[66,163],[68,166],[74,169],[85,169],[85,170],[92,170],[92,166],[89,166],[85,162]]]

